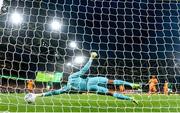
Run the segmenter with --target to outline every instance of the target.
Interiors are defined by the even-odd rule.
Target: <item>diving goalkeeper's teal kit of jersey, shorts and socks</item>
[[[74,89],[77,91],[96,91],[97,93],[101,93],[101,94],[108,93],[109,90],[106,88],[108,79],[106,77],[85,77],[85,79],[84,79],[83,76],[88,71],[91,64],[92,64],[92,59],[89,59],[89,61],[86,63],[86,65],[80,71],[73,73],[72,75],[70,75],[68,77],[68,83],[66,86],[64,86],[58,90],[46,92],[46,93],[44,93],[44,96],[58,95],[58,94],[66,93],[66,92],[70,91],[71,89]],[[133,85],[133,83],[122,81],[122,80],[114,80],[113,83],[115,85],[122,85],[122,84],[128,85],[128,86]],[[99,85],[105,85],[105,87],[102,87]],[[115,97],[116,96],[117,95],[115,95]],[[123,95],[119,95],[118,98],[125,99],[126,97]]]

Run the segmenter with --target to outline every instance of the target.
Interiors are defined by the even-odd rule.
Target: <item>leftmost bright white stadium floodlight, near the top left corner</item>
[[[10,19],[13,24],[20,24],[23,20],[23,17],[19,13],[15,12],[11,15]]]

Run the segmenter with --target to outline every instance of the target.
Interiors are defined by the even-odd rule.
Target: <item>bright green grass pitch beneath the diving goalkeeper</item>
[[[35,104],[27,104],[24,95],[0,93],[0,112],[180,112],[180,95],[130,95],[139,105],[94,94],[38,97]]]

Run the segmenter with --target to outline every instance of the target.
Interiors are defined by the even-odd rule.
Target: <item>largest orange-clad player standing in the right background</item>
[[[157,92],[156,85],[158,84],[158,80],[155,75],[152,75],[152,78],[148,82],[149,84],[149,93],[148,94],[154,94]]]

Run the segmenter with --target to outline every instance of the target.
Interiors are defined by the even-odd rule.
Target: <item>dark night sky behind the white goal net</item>
[[[67,43],[76,40],[84,54],[98,52],[99,60],[94,65],[105,68],[104,72],[109,74],[133,75],[134,67],[140,71],[141,68],[152,67],[151,73],[175,75],[174,61],[180,58],[180,3],[162,1],[11,1],[7,16],[0,17],[0,36],[1,47],[9,43],[8,48],[12,49],[1,48],[0,51],[3,55],[11,56],[9,60],[21,61],[24,65],[28,63],[25,69],[20,66],[15,70],[62,71],[62,64],[76,55],[67,48]],[[8,21],[14,9],[24,16],[23,24],[18,27]],[[63,22],[59,33],[49,28],[53,18]],[[47,47],[42,46],[43,42]],[[55,58],[55,53],[60,58]],[[8,58],[5,59],[8,62]],[[157,66],[165,71],[158,70]],[[126,73],[124,67],[132,73]],[[139,74],[147,75],[147,69]]]

